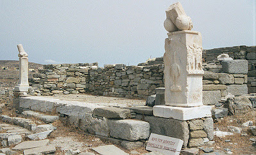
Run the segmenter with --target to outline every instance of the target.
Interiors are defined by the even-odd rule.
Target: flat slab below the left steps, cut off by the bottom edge
[[[24,155],[32,155],[32,154],[49,154],[56,152],[56,148],[53,145],[43,146],[43,147],[36,147],[33,149],[24,150]]]

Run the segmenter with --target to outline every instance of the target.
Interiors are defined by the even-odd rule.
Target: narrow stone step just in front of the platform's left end
[[[52,122],[60,119],[60,117],[58,115],[45,115],[42,112],[35,112],[33,110],[25,110],[21,114],[22,114],[22,117],[24,117],[24,118],[27,118],[27,117],[35,118],[35,119],[45,122],[46,124],[52,123]]]

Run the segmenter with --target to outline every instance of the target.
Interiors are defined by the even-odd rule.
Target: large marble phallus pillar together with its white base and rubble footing
[[[154,116],[173,121],[169,126],[175,126],[180,135],[168,136],[184,140],[184,147],[204,145],[204,138],[213,138],[211,106],[202,103],[202,36],[191,31],[192,27],[180,3],[166,10],[164,28],[169,33],[164,44],[165,105],[153,107]],[[174,122],[187,125],[177,126]]]

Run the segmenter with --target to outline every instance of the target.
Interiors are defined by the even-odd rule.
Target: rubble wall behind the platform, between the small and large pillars
[[[83,64],[49,64],[29,80],[41,95],[77,94],[143,98],[156,94],[164,87],[163,64],[154,66],[125,66],[108,64],[104,68]],[[38,93],[33,93],[38,94]]]

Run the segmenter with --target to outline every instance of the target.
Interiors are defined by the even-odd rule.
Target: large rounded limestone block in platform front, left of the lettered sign
[[[124,140],[144,140],[150,135],[150,125],[148,122],[125,120],[108,120],[110,136]]]

